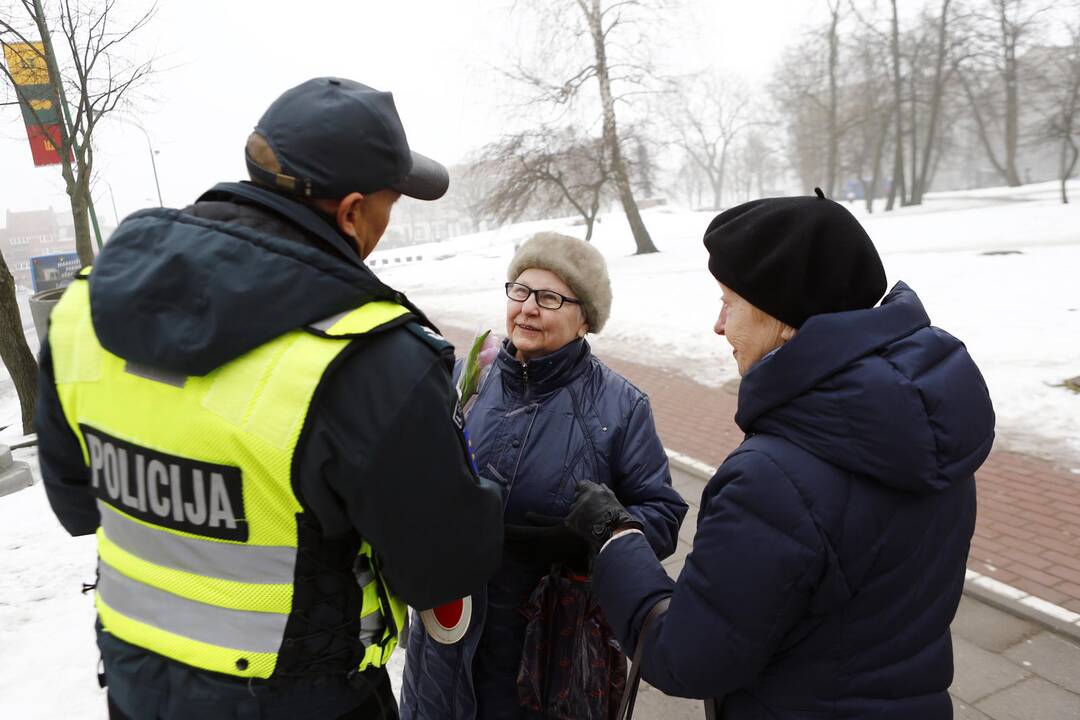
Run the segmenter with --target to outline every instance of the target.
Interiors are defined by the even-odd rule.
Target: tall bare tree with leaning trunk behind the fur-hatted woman
[[[647,92],[645,85],[651,70],[647,62],[613,57],[617,49],[642,49],[646,33],[640,23],[653,8],[646,0],[535,0],[531,4],[540,13],[545,35],[540,42],[545,45],[549,56],[573,55],[575,50],[583,46],[588,50],[580,57],[573,55],[572,65],[564,77],[554,80],[548,72],[525,67],[522,63],[510,74],[531,87],[537,99],[555,106],[577,100],[589,83],[596,81],[605,152],[634,236],[636,254],[656,253],[657,247],[634,199],[623,154],[624,138],[619,132],[616,113],[617,104],[630,104],[635,95]],[[633,37],[635,29],[637,38]],[[585,43],[576,45],[576,41],[582,39]]]

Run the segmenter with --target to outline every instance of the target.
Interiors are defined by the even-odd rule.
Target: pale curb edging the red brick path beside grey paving
[[[704,483],[712,477],[715,468],[708,463],[690,456],[669,450],[667,462],[672,466]],[[1058,604],[1036,597],[1018,587],[1007,585],[993,578],[968,570],[963,580],[963,594],[988,606],[1035,623],[1048,630],[1063,635],[1074,642],[1080,642],[1080,614]]]

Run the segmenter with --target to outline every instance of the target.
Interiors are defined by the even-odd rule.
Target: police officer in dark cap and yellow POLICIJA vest
[[[446,169],[393,97],[318,78],[247,141],[252,182],[126,218],[53,312],[49,500],[97,533],[113,718],[395,718],[405,607],[483,586],[501,505],[453,348],[364,264]]]

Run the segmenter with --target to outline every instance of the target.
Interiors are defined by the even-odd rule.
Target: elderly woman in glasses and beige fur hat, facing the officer
[[[603,256],[580,240],[540,233],[522,245],[507,277],[508,337],[467,421],[480,474],[503,489],[503,561],[473,595],[463,638],[442,644],[421,627],[410,633],[406,720],[548,717],[518,690],[524,611],[550,572],[588,572],[588,544],[562,522],[579,484],[610,489],[653,560],[674,552],[687,511],[648,398],[585,340],[611,308]]]

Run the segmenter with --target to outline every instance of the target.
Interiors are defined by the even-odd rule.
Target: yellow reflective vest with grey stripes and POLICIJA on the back
[[[85,274],[54,309],[49,341],[100,512],[100,622],[174,661],[269,678],[294,610],[302,507],[292,467],[312,396],[353,339],[408,311],[370,302],[183,377],[102,347]],[[354,573],[364,670],[388,662],[406,608],[366,542]]]

